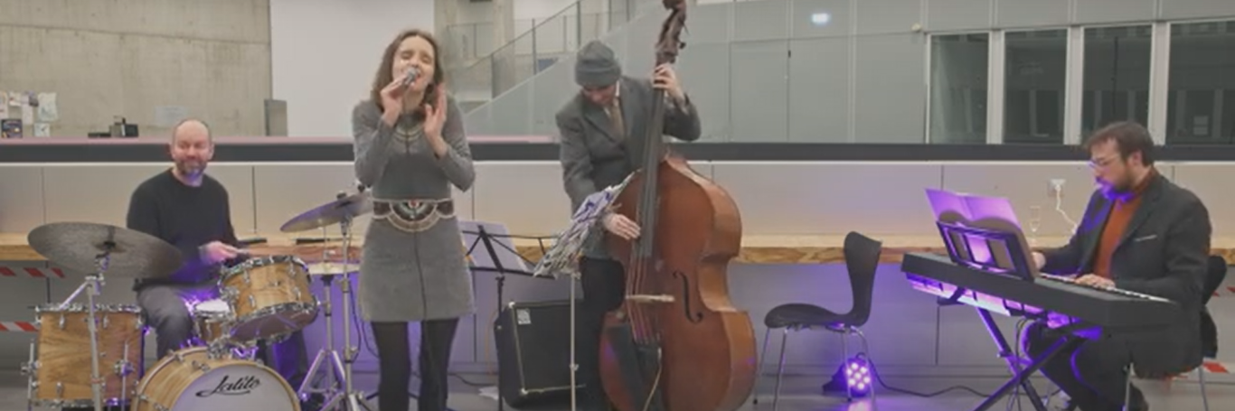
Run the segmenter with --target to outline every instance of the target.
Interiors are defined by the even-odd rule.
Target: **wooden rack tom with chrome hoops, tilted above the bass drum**
[[[235,341],[277,339],[317,318],[309,269],[293,255],[249,259],[227,269],[219,286],[235,313]]]

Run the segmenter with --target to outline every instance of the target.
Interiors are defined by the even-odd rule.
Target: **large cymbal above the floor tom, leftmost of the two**
[[[26,239],[48,262],[83,273],[96,273],[95,259],[109,251],[110,276],[165,278],[183,262],[179,249],[154,236],[93,222],[42,225]]]

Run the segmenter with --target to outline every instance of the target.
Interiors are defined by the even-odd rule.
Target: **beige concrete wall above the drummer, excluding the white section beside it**
[[[0,0],[0,90],[57,93],[52,136],[105,132],[112,116],[164,135],[159,106],[262,136],[269,22],[267,0]]]

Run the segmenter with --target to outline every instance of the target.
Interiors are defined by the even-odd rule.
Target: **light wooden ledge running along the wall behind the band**
[[[252,247],[254,254],[294,254],[305,262],[315,263],[322,260],[337,260],[342,244],[338,242],[295,246],[295,238],[287,235],[262,236],[268,239],[266,244]],[[884,263],[897,263],[909,252],[934,252],[945,253],[942,242],[934,236],[878,236],[872,238],[883,242]],[[359,257],[359,246],[363,236],[356,236],[352,244],[351,255]],[[1042,247],[1056,247],[1067,242],[1065,237],[1042,237],[1037,243]],[[550,244],[546,241],[546,244]],[[757,264],[819,264],[841,263],[845,260],[844,253],[845,236],[746,236],[742,238],[742,251],[735,259],[736,263]],[[529,260],[538,260],[542,255],[536,241],[516,239],[515,247],[519,253]],[[324,254],[326,252],[326,254]],[[1235,238],[1215,238],[1213,242],[1213,254],[1226,258],[1228,263],[1235,262]],[[0,262],[44,262],[35,249],[26,243],[23,233],[0,233]]]

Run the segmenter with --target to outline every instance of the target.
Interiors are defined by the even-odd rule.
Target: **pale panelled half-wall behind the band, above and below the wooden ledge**
[[[0,232],[22,233],[54,221],[124,225],[133,186],[164,167],[0,165]],[[1023,220],[1029,218],[1030,207],[1039,206],[1042,210],[1039,235],[1063,236],[1071,226],[1053,211],[1055,199],[1047,195],[1049,179],[1066,179],[1060,210],[1071,218],[1079,218],[1091,193],[1089,172],[1083,163],[697,163],[695,167],[734,196],[747,235],[841,235],[850,230],[876,238],[931,235],[935,228],[923,189],[941,186],[1008,196]],[[513,233],[525,235],[562,228],[567,200],[561,189],[558,164],[485,162],[477,168],[475,188],[456,193],[461,218],[501,222]],[[1235,201],[1225,183],[1226,175],[1235,173],[1235,165],[1188,163],[1162,164],[1161,168],[1165,175],[1195,190],[1207,201],[1215,236],[1235,236],[1235,210],[1223,206]],[[214,164],[209,173],[230,190],[232,217],[241,237],[274,232],[287,218],[332,200],[335,193],[347,189],[353,179],[352,165],[347,163],[230,163]],[[773,180],[778,185],[768,184]],[[357,226],[357,235],[361,235],[367,221]],[[495,354],[490,330],[499,306],[496,281],[492,274],[474,275],[477,313],[464,318],[459,327],[453,365],[459,370],[492,370]],[[79,281],[79,274],[73,273],[67,279],[54,280],[0,278],[0,321],[31,321],[30,305],[46,302],[48,293],[51,300],[64,299]],[[133,304],[130,284],[126,279],[112,278],[101,300]],[[762,318],[778,304],[811,302],[839,311],[850,306],[848,280],[839,264],[734,264],[729,284],[736,305],[748,310],[761,342]],[[321,297],[320,285],[314,288]],[[510,276],[504,293],[506,301],[564,299],[569,284]],[[332,295],[336,310],[341,310],[341,299],[336,288]],[[1216,297],[1210,309],[1215,311],[1220,330],[1235,330],[1231,328],[1235,327],[1235,296]],[[335,333],[341,341],[340,313],[336,311]],[[1013,338],[1013,321],[1005,320],[1000,321]],[[324,341],[322,322],[320,318],[306,332],[311,352]],[[366,330],[366,336],[368,333]],[[958,369],[1004,373],[1003,362],[995,355],[973,310],[936,307],[932,297],[909,288],[897,265],[884,265],[879,270],[866,334],[871,341],[871,355],[885,369],[931,374]],[[32,333],[0,332],[0,368],[15,368],[25,360],[32,337]],[[367,344],[373,343],[372,337],[366,338]],[[147,351],[153,351],[153,336]],[[1235,342],[1224,339],[1221,352],[1231,351],[1235,351]],[[787,360],[794,373],[830,373],[832,364],[840,360],[839,339],[823,332],[795,334],[789,342]],[[359,367],[373,368],[374,364],[369,351],[362,348]]]

